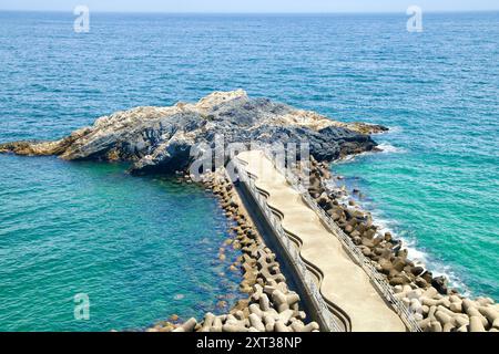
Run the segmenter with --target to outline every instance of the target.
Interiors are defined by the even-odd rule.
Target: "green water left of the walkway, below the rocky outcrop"
[[[236,254],[217,259],[228,222],[200,187],[52,157],[0,166],[0,331],[138,330],[240,295]]]

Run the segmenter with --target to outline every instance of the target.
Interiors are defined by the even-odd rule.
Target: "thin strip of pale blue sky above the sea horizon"
[[[141,12],[405,12],[499,10],[499,0],[0,0],[0,10]]]

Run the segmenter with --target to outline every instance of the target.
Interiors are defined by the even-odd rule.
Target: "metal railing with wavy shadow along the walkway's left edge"
[[[278,237],[281,243],[292,258],[292,260],[295,263],[295,267],[299,274],[303,278],[303,281],[305,285],[307,287],[312,300],[315,302],[316,309],[318,310],[318,315],[322,317],[322,322],[327,327],[327,331],[329,332],[343,332],[342,325],[338,324],[338,320],[335,319],[335,316],[330,313],[326,302],[324,301],[323,295],[320,294],[320,290],[318,289],[317,284],[315,283],[313,277],[309,273],[309,270],[307,269],[307,266],[302,260],[298,249],[293,244],[293,242],[289,240],[289,238],[286,236],[283,226],[277,220],[276,216],[271,210],[271,207],[267,204],[266,198],[257,190],[255,186],[255,181],[253,178],[251,178],[244,167],[240,164],[240,162],[236,160],[237,158],[233,159],[234,167],[236,167],[238,171],[238,178],[240,181],[244,183],[252,194],[253,198],[258,204],[265,219],[267,220],[268,225],[273,228],[275,235]]]

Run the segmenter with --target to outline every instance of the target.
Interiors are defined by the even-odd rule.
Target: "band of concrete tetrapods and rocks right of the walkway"
[[[328,163],[313,160],[308,192],[384,274],[422,331],[499,332],[499,304],[490,298],[467,299],[449,289],[446,277],[434,277],[413,262],[401,240],[390,232],[380,233],[371,215],[357,206],[344,188],[328,187],[327,181],[334,178]]]

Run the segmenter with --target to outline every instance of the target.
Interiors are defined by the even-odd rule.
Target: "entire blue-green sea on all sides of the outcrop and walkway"
[[[422,33],[405,14],[92,13],[85,34],[73,19],[0,12],[0,142],[237,87],[385,124],[395,153],[335,169],[430,266],[499,299],[498,13],[425,14]],[[215,201],[123,170],[0,156],[1,330],[136,329],[235,293],[211,263],[226,237]]]

